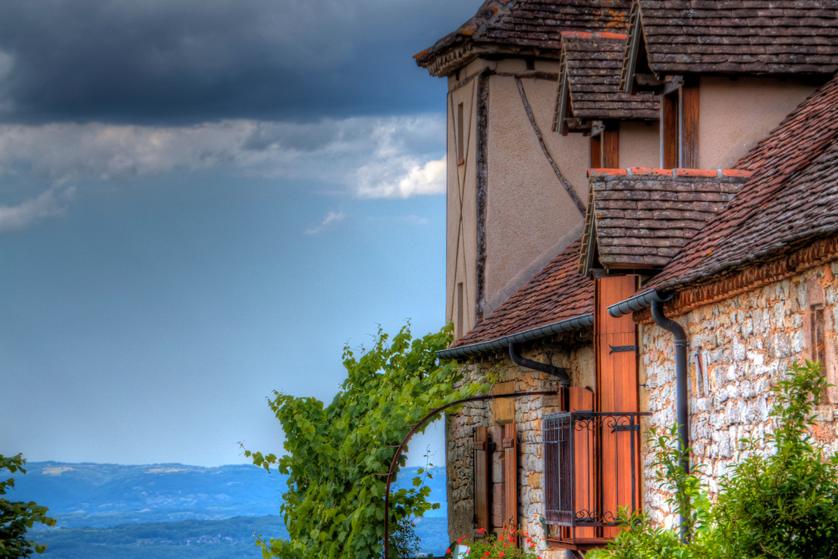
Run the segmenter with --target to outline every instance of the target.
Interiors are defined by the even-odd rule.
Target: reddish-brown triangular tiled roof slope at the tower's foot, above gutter
[[[453,347],[478,344],[593,312],[593,281],[577,273],[580,241],[556,256]]]

